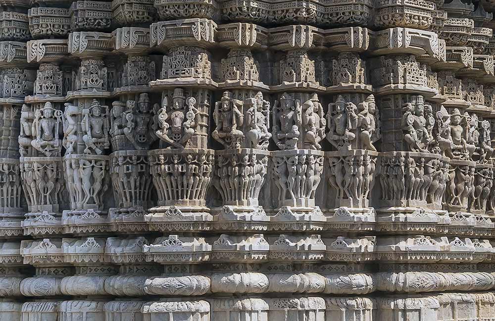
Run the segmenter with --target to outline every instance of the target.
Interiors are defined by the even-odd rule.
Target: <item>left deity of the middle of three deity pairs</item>
[[[273,106],[273,140],[281,150],[297,148],[302,125],[301,106],[298,99],[283,93]]]

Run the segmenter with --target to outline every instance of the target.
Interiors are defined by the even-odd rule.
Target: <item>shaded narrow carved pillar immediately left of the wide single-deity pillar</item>
[[[122,87],[114,88],[119,101],[110,111],[110,175],[117,207],[108,213],[114,231],[148,230],[144,215],[151,207],[152,181],[148,150],[157,139],[158,104],[152,104],[148,82],[155,80],[149,50],[149,29],[124,27],[112,33],[116,49],[127,54]]]

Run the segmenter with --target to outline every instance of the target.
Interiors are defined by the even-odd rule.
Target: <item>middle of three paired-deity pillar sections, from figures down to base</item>
[[[300,99],[305,100],[302,106]],[[271,153],[272,185],[278,191],[273,196],[278,212],[271,217],[270,224],[278,230],[324,224],[326,217],[315,205],[323,172],[320,142],[325,137],[323,107],[318,96],[284,93],[275,103],[272,116],[272,139],[280,151]]]

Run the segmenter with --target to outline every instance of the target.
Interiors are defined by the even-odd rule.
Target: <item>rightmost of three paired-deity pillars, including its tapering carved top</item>
[[[364,228],[374,222],[374,209],[369,207],[375,185],[378,152],[374,143],[381,138],[380,108],[371,93],[364,60],[359,52],[367,49],[367,32],[348,31],[356,43],[331,42],[339,50],[333,60],[330,84],[335,102],[328,105],[326,139],[335,151],[325,152],[330,202],[330,226],[351,224]],[[335,192],[334,192],[335,191]],[[325,195],[325,193],[323,193]],[[328,198],[324,198],[328,203]],[[327,204],[325,204],[327,205]]]

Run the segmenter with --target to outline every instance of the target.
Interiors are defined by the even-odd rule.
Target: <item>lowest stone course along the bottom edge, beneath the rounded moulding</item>
[[[155,302],[5,301],[0,304],[0,312],[9,321],[20,321],[21,316],[22,320],[60,321],[474,321],[494,318],[494,300],[492,292],[481,292],[377,298],[296,295],[282,298],[172,298]],[[451,318],[457,315],[463,319]]]

